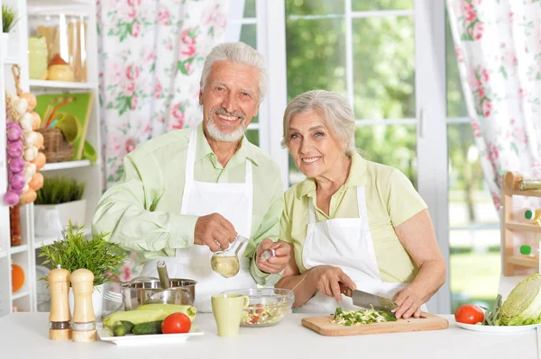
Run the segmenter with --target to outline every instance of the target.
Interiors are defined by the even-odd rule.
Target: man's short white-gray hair
[[[255,67],[260,71],[260,102],[267,94],[267,61],[256,49],[243,42],[225,42],[216,45],[208,54],[201,74],[201,91],[205,89],[206,79],[212,66],[218,61],[230,61],[238,64]]]

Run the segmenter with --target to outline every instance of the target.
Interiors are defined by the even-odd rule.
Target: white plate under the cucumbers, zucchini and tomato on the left
[[[204,332],[199,328],[192,326],[188,333],[182,334],[148,334],[136,336],[127,334],[124,337],[115,337],[113,331],[109,328],[104,328],[102,323],[98,323],[97,336],[105,341],[115,343],[117,346],[158,346],[164,344],[181,344],[186,342],[190,337],[202,336]]]

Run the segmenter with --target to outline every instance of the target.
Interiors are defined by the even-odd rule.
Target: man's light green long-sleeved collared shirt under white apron
[[[138,263],[175,256],[177,248],[194,245],[198,217],[180,214],[190,131],[172,130],[124,157],[124,174],[97,205],[93,232],[110,232],[110,241],[137,252]],[[284,205],[280,169],[245,136],[224,168],[208,145],[202,125],[197,126],[196,181],[243,183],[246,160],[253,164],[253,209],[252,233],[244,256],[252,258],[250,271],[254,280],[261,285],[273,285],[281,274],[261,272],[253,258],[264,238],[279,238]]]

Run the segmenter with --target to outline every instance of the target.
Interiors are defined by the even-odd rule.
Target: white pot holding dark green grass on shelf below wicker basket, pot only
[[[60,236],[62,229],[69,226],[85,225],[87,218],[87,200],[60,204],[37,204],[34,206],[34,228],[36,237]]]

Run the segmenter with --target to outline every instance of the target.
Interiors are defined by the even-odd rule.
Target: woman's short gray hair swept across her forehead
[[[351,157],[355,148],[355,117],[352,108],[345,98],[325,90],[312,90],[299,94],[288,104],[284,112],[284,137],[282,148],[287,147],[289,140],[289,122],[298,113],[313,110],[326,123],[326,127],[341,144],[344,144],[346,156]]]

